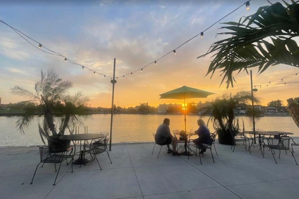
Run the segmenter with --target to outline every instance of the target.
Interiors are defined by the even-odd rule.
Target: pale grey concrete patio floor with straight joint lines
[[[159,146],[152,155],[153,143],[112,145],[110,164],[106,153],[85,166],[63,162],[56,185],[54,164],[38,168],[33,177],[37,147],[0,148],[1,198],[299,198],[299,166],[291,153],[281,152],[275,164],[271,152],[265,158],[259,149],[251,154],[242,145],[234,152],[230,146],[216,144],[198,156],[172,156]],[[294,147],[299,162],[299,147]]]

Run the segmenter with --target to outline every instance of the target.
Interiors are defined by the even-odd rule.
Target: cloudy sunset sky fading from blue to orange
[[[116,58],[116,76],[144,67],[165,53],[199,34],[211,24],[239,7],[245,1],[1,1],[0,19],[21,30],[39,43],[65,55],[97,72],[113,74]],[[276,1],[271,1],[272,3]],[[288,2],[288,1],[287,1]],[[250,10],[245,6],[220,22],[239,21],[242,16],[256,12],[266,0],[252,0]],[[250,75],[235,74],[237,83],[226,89],[220,85],[222,77],[216,71],[212,78],[205,76],[212,58],[198,58],[213,42],[225,37],[216,33],[224,24],[217,23],[178,50],[115,84],[114,104],[135,107],[140,103],[158,106],[164,103],[183,103],[181,100],[159,99],[159,94],[181,86],[194,87],[216,93],[236,93],[250,90]],[[111,107],[112,84],[109,78],[82,67],[63,62],[62,57],[49,55],[34,48],[13,30],[0,24],[0,97],[1,104],[26,100],[10,94],[14,85],[33,90],[40,79],[40,70],[53,68],[64,80],[73,81],[70,94],[82,91],[90,97],[91,107]],[[299,69],[287,65],[271,66],[260,75],[253,69],[254,84],[262,84]],[[296,81],[294,75],[285,82]],[[276,81],[279,83],[280,81]],[[266,105],[271,100],[298,97],[299,84],[258,88],[256,96]],[[187,99],[187,102],[205,102],[205,98]]]

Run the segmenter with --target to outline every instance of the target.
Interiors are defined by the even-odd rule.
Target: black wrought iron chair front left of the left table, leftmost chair
[[[57,171],[56,169],[56,163],[59,164],[58,172],[54,181],[54,184],[56,183],[57,176],[60,170],[61,163],[63,161],[67,161],[68,158],[71,158],[73,160],[73,147],[49,147],[49,146],[38,146],[39,147],[39,154],[40,154],[40,162],[37,164],[35,172],[33,174],[33,178],[35,176],[37,167],[39,166],[40,163],[54,163],[55,166],[55,172]],[[68,153],[69,152],[69,153]],[[73,172],[73,162],[72,163],[72,172]],[[44,165],[44,164],[43,164]],[[33,182],[33,178],[31,180],[31,183]]]

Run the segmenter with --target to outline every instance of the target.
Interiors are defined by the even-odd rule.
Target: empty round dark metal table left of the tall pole
[[[93,140],[93,139],[98,139],[98,138],[103,138],[105,137],[105,135],[103,134],[96,134],[96,133],[89,133],[89,134],[76,134],[76,135],[62,135],[61,137],[59,137],[61,140],[71,140],[73,141],[74,144],[74,155],[76,154],[76,145],[74,143],[74,141],[80,141],[80,156],[77,160],[74,160],[73,163],[74,164],[81,164],[82,163],[87,163],[90,161],[90,159],[85,158],[85,153],[84,153],[84,149],[81,150],[81,141],[84,141],[84,145],[86,143],[87,140]]]

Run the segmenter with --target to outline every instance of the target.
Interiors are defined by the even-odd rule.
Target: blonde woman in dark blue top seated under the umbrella
[[[197,124],[199,128],[197,131],[195,131],[198,135],[197,139],[194,139],[193,142],[194,144],[201,146],[202,144],[211,144],[211,135],[210,135],[210,130],[205,124],[205,122],[202,119],[197,120]],[[206,149],[202,149],[199,153],[205,152]]]

